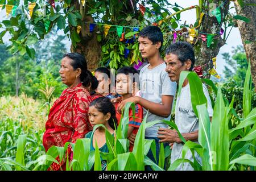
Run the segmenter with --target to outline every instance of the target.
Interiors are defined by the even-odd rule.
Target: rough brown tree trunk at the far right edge
[[[238,15],[245,16],[250,19],[249,23],[243,20],[237,20],[237,25],[241,34],[243,47],[245,48],[247,61],[251,63],[251,77],[255,85],[256,91],[256,7],[249,4],[255,4],[255,0],[243,0],[243,7],[237,1],[234,2]]]

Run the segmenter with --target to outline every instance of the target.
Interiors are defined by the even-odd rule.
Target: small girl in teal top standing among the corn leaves
[[[89,121],[93,127],[102,124],[110,134],[114,135],[114,125],[117,126],[117,118],[115,117],[115,107],[110,102],[109,98],[100,97],[92,101],[89,105],[88,115]],[[106,145],[105,129],[103,127],[98,127],[97,130],[94,131],[93,136],[92,131],[90,131],[85,135],[85,138],[91,138],[91,151],[95,150],[97,142],[97,146],[101,152],[109,152]],[[106,170],[106,160],[101,160],[101,168],[102,171]]]

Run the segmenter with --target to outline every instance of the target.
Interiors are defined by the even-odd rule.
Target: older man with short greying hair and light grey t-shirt
[[[176,42],[171,44],[166,50],[166,72],[171,78],[171,81],[176,81],[179,84],[181,71],[192,71],[195,64],[195,55],[193,47],[187,42]],[[191,94],[189,89],[189,82],[187,79],[183,82],[181,93],[177,97],[175,107],[175,123],[183,135],[185,140],[197,141],[199,130],[199,119],[196,117],[191,103]],[[203,84],[203,92],[207,98],[208,113],[210,118],[213,115],[213,109],[210,102],[210,97],[206,86]],[[181,159],[182,148],[184,143],[181,142],[176,130],[160,128],[158,131],[159,142],[168,142],[172,146],[171,165],[175,160]],[[191,151],[187,152],[185,158],[193,162]],[[201,163],[200,156],[195,152],[197,162]],[[189,163],[180,164],[176,170],[193,170]]]

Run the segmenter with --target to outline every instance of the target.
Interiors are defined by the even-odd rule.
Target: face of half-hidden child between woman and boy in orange
[[[95,90],[98,94],[109,93],[110,78],[105,73],[95,72],[94,75],[98,80],[98,88]]]

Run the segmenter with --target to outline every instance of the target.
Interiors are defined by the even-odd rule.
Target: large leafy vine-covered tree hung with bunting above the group
[[[6,3],[5,0],[0,2]],[[32,8],[33,14],[29,20],[26,12],[33,2],[36,4]],[[84,2],[84,5],[81,2]],[[27,52],[33,57],[35,51],[31,45],[35,44],[37,39],[44,39],[44,36],[57,26],[71,38],[71,51],[85,55],[90,70],[98,65],[118,69],[124,65],[138,63],[142,58],[135,39],[136,34],[143,27],[154,24],[164,32],[162,56],[165,48],[173,41],[191,42],[195,47],[197,65],[206,64],[203,69],[205,76],[209,77],[208,71],[213,67],[210,60],[216,57],[220,47],[225,44],[228,37],[226,30],[232,26],[230,22],[233,21],[233,16],[228,11],[229,1],[220,0],[199,0],[199,5],[187,8],[180,7],[176,3],[172,5],[166,0],[141,1],[139,9],[137,9],[138,2],[133,0],[64,0],[48,1],[48,3],[26,0],[24,5],[20,5],[19,1],[11,0],[7,4],[20,6],[23,10],[22,14],[2,22],[5,31],[12,35],[9,49],[13,53]],[[42,7],[46,7],[45,10]],[[195,24],[180,22],[180,13],[190,9],[196,9]],[[90,31],[90,28],[92,29],[90,23],[96,23],[93,31]],[[112,25],[109,31],[106,31],[104,26],[106,24]],[[222,24],[224,24],[223,39],[220,36]],[[122,35],[125,35],[121,37],[121,41],[117,36],[117,27],[121,27],[124,33]],[[108,34],[104,35],[104,31]]]

